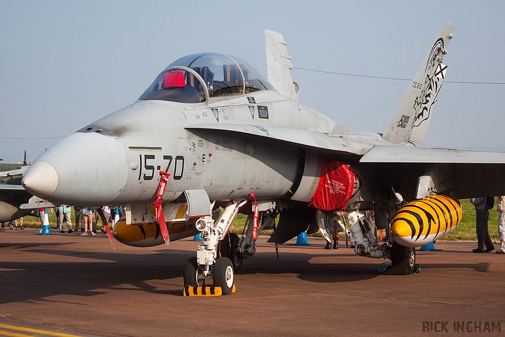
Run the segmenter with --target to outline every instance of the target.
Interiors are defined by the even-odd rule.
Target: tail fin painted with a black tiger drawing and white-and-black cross
[[[408,140],[424,143],[438,93],[445,77],[443,57],[452,38],[454,26],[445,22],[409,89],[396,109],[382,138],[391,144]]]

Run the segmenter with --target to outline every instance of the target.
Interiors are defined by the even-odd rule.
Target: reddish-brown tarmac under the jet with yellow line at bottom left
[[[417,252],[419,273],[384,275],[388,260],[359,257],[342,240],[338,250],[312,238],[279,245],[277,260],[260,237],[235,294],[188,298],[193,240],[114,250],[103,234],[36,233],[0,232],[0,335],[414,336],[430,322],[459,335],[461,321],[505,333],[505,256],[471,253],[472,242],[437,242],[443,251]]]

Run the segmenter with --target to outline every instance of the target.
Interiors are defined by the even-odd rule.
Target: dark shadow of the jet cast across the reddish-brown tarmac
[[[56,244],[58,245],[58,244]],[[4,244],[5,246],[5,244]],[[9,246],[16,246],[9,244]],[[52,245],[34,245],[52,246]],[[96,296],[104,294],[100,290],[125,290],[160,295],[181,295],[181,290],[162,289],[150,283],[153,280],[179,278],[181,282],[185,261],[194,252],[185,250],[160,250],[153,254],[128,254],[114,252],[76,252],[70,250],[29,249],[27,252],[84,258],[85,261],[52,262],[3,262],[0,271],[4,292],[0,304],[11,302],[36,303],[46,301],[55,295]],[[279,275],[297,274],[297,278],[317,283],[339,283],[371,279],[381,275],[376,263],[339,263],[339,258],[348,258],[346,252],[335,254],[307,254],[283,252],[280,260],[275,253],[257,253],[243,261],[238,275],[255,274]],[[310,260],[322,257],[332,263],[311,263]],[[39,257],[40,259],[40,257]],[[89,260],[92,259],[92,260]],[[426,264],[425,268],[465,268],[487,271],[487,263],[477,264]],[[12,269],[12,270],[9,270]],[[282,282],[282,281],[279,281]],[[173,284],[172,284],[173,285]],[[169,286],[172,286],[169,284]],[[181,283],[182,289],[182,283]]]

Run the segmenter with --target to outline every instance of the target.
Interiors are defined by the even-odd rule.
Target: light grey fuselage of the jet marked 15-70
[[[251,98],[256,103],[249,103]],[[37,158],[33,168],[37,162],[48,163],[58,177],[54,191],[41,197],[73,205],[148,204],[156,197],[160,170],[170,173],[167,202],[176,200],[184,189],[205,189],[211,200],[240,199],[251,191],[259,199],[294,193],[290,188],[305,163],[298,147],[231,132],[185,129],[209,123],[326,133],[335,124],[271,90],[208,104],[137,101],[82,128]],[[356,134],[344,137],[342,141],[348,143],[358,140]],[[370,148],[381,142],[377,134],[360,133],[360,146],[367,145],[367,138]],[[69,153],[79,156],[67,160]]]

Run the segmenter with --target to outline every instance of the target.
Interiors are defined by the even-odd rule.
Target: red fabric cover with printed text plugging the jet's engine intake
[[[354,173],[348,165],[325,158],[317,190],[309,205],[322,211],[341,209],[352,196]]]

